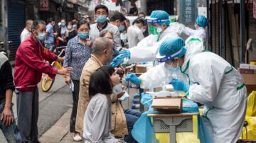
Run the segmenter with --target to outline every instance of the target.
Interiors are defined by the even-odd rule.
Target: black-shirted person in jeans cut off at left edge
[[[0,52],[0,129],[7,142],[22,142],[12,110],[11,99],[15,86],[11,73],[8,58]]]

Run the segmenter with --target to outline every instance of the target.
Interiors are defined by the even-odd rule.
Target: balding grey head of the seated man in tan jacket
[[[112,47],[112,43],[109,39],[100,37],[96,38],[92,45],[92,50],[94,54],[100,54],[103,50],[107,50],[107,48]]]

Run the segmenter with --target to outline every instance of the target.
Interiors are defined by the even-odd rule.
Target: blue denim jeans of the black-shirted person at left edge
[[[5,102],[0,104],[0,117],[1,117],[1,114],[3,113],[4,105],[5,105]],[[11,106],[11,113],[12,115],[14,115],[12,106]],[[4,125],[4,122],[0,122],[0,129],[4,133],[4,137],[6,137],[7,142],[22,142],[21,135],[18,131],[18,127],[16,125],[15,120],[9,126]]]

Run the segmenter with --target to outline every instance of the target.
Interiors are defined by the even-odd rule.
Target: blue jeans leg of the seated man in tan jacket
[[[135,122],[137,122],[137,120],[142,115],[142,113],[140,113],[137,110],[124,109],[124,114],[125,114],[125,118],[127,120],[127,128],[128,128],[128,133],[129,133],[129,135],[126,135],[124,137],[124,141],[127,143],[137,143],[137,141],[132,137],[132,129],[133,129]]]

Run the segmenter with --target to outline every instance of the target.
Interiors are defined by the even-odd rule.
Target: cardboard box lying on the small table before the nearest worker
[[[181,97],[155,97],[153,99],[152,108],[166,113],[181,113],[182,100]]]

